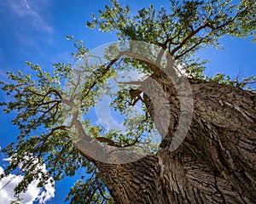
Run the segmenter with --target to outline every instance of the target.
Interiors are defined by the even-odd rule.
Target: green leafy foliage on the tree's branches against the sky
[[[87,22],[90,29],[100,29],[104,32],[114,31],[119,41],[137,40],[153,43],[171,54],[177,63],[183,65],[183,70],[189,77],[207,79],[208,81],[227,83],[239,88],[247,88],[247,84],[255,81],[255,77],[248,77],[243,81],[230,79],[222,74],[215,77],[204,76],[204,59],[195,59],[198,50],[212,45],[221,48],[219,39],[224,35],[233,37],[250,37],[255,34],[256,6],[253,0],[243,0],[239,5],[231,1],[170,1],[170,8],[154,9],[154,5],[143,8],[134,16],[129,14],[129,7],[122,8],[118,2],[111,1],[112,7],[106,6],[99,14],[92,14],[92,20]],[[253,21],[254,20],[254,21]],[[89,50],[84,44],[72,40],[77,48],[74,59],[80,59]],[[161,53],[157,57],[161,58]],[[7,103],[1,105],[4,111],[15,113],[13,124],[20,128],[15,143],[9,144],[3,152],[11,158],[5,173],[13,173],[23,165],[25,175],[23,181],[16,187],[16,192],[26,190],[33,179],[43,175],[40,186],[52,177],[61,180],[73,176],[79,169],[84,169],[84,176],[71,189],[68,199],[72,203],[113,203],[108,190],[98,177],[98,171],[90,158],[79,154],[73,144],[73,139],[63,125],[64,118],[61,108],[72,101],[61,100],[61,84],[70,75],[73,65],[57,63],[52,72],[42,71],[39,65],[27,62],[32,74],[15,74],[9,72],[9,82],[1,82],[2,90],[11,97]],[[86,71],[94,74],[84,79],[83,83],[83,111],[88,113],[101,98],[104,91],[102,84],[114,77],[118,70],[139,70],[150,75],[154,72],[139,59],[115,60],[111,65],[87,66]],[[129,109],[131,100],[129,90],[120,86],[120,90],[113,102],[113,108],[125,113]],[[100,141],[117,146],[138,144],[142,134],[150,132],[152,122],[146,112],[137,118],[136,131],[124,135],[113,130],[104,133],[102,127],[93,126],[90,120],[84,122],[85,132]],[[134,118],[132,118],[134,120]],[[129,121],[130,120],[130,121]],[[126,124],[131,125],[131,119]],[[134,125],[134,124],[132,124]],[[133,127],[134,129],[134,127]],[[102,139],[102,138],[107,139]],[[101,140],[101,139],[102,140]],[[154,151],[153,151],[154,153]],[[27,160],[27,156],[34,156],[34,160]],[[45,163],[48,173],[37,168],[38,163]],[[41,172],[40,172],[41,171]]]

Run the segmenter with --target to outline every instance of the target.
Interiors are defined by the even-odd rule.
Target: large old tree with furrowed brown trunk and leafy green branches
[[[114,0],[111,3],[112,8],[106,6],[98,17],[92,14],[93,20],[87,23],[92,29],[115,31],[119,37],[118,46],[110,45],[105,50],[109,62],[86,64],[95,56],[82,42],[67,37],[77,48],[74,59],[83,59],[84,64],[76,66],[79,69],[72,69],[71,63],[58,63],[49,73],[27,62],[35,75],[9,72],[12,82],[1,83],[3,91],[13,99],[2,103],[4,111],[15,111],[13,123],[20,128],[17,143],[3,149],[11,158],[5,174],[20,165],[24,170],[16,193],[26,190],[38,175],[41,187],[51,177],[61,180],[84,168],[90,178],[83,176],[70,190],[67,199],[71,203],[256,201],[256,95],[253,90],[245,90],[255,78],[238,81],[221,74],[207,78],[203,75],[206,61],[195,59],[199,49],[208,45],[219,48],[218,40],[224,35],[252,36],[254,1],[243,0],[239,5],[218,0],[170,1],[169,10],[160,8],[157,13],[150,5],[133,17],[129,7],[122,8]],[[127,40],[125,48],[129,52],[122,47]],[[155,47],[144,49],[141,41]],[[173,59],[182,66],[186,77],[178,73],[181,70],[173,66]],[[162,69],[163,65],[166,68]],[[108,79],[116,77],[117,71],[131,70],[142,71],[147,78],[136,84],[122,82],[112,103],[114,109],[124,114],[136,102],[143,105],[144,115],[127,114],[125,124],[130,131],[104,133],[89,119],[81,122],[81,111],[88,114],[102,94],[108,92]],[[90,76],[84,74],[88,72]],[[61,92],[65,79],[69,92]],[[183,87],[187,86],[186,80],[192,93],[189,95],[183,92],[183,88],[188,90]],[[158,86],[164,93],[147,93]],[[168,120],[161,94],[167,99]],[[191,97],[193,101],[189,100]],[[186,107],[184,112],[182,106]],[[186,137],[177,138],[183,114],[189,118],[185,122],[189,129],[181,129]],[[166,121],[168,126],[164,128]],[[140,150],[148,141],[142,135],[152,131],[153,122],[162,140],[157,149],[149,148],[142,156]],[[130,150],[133,146],[136,148]],[[98,155],[105,156],[106,162],[96,160]],[[123,162],[131,157],[135,161]],[[42,163],[48,167],[48,173],[38,168]]]

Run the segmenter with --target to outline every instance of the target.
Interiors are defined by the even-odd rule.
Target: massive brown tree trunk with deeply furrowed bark
[[[192,123],[183,143],[170,151],[179,105],[172,83],[161,84],[170,96],[172,113],[161,150],[133,163],[96,163],[114,200],[125,204],[255,203],[256,94],[190,80]],[[147,95],[144,100],[154,120]]]

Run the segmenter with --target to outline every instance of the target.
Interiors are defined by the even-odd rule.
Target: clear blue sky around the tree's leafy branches
[[[147,7],[149,3],[166,4],[167,1],[122,0],[131,6],[131,12]],[[107,0],[1,0],[0,1],[0,79],[5,80],[6,71],[28,71],[25,61],[39,64],[45,70],[55,62],[68,62],[73,45],[67,35],[84,40],[88,48],[96,48],[116,38],[113,33],[91,31],[85,27],[90,13],[109,4]],[[250,39],[224,37],[224,51],[207,48],[199,56],[211,60],[207,75],[222,72],[236,77],[248,77],[256,73],[256,44]],[[4,96],[0,94],[3,101]],[[0,112],[0,146],[15,139],[17,130],[11,125],[12,116]],[[0,160],[1,156],[0,156]],[[0,166],[3,162],[0,161]],[[55,198],[47,203],[63,203],[76,178],[66,178],[55,186]],[[1,184],[0,184],[1,189]],[[1,193],[1,192],[0,192]],[[0,201],[0,204],[2,202]]]

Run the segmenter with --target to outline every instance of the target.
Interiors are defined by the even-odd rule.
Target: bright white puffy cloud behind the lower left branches
[[[45,165],[41,165],[38,168],[46,171]],[[3,167],[0,167],[0,174],[1,173],[3,173]],[[23,176],[21,175],[9,174],[9,176],[0,180],[0,204],[10,203],[10,201],[15,200],[14,189],[22,178]],[[33,180],[32,183],[28,185],[26,192],[20,194],[20,197],[23,198],[20,204],[32,204],[33,201],[38,201],[43,204],[55,196],[55,188],[52,187],[51,184],[46,184],[44,189],[42,189],[37,187],[38,182],[38,180]]]

